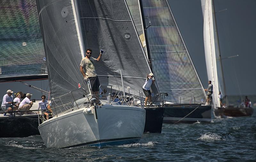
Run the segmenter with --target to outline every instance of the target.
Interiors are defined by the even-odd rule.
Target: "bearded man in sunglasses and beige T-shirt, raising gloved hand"
[[[86,50],[86,57],[83,58],[80,63],[80,72],[84,76],[85,81],[89,79],[92,95],[95,95],[95,97],[97,97],[97,95],[99,94],[100,81],[96,74],[93,63],[94,61],[97,61],[97,62],[100,61],[100,58],[103,52],[104,52],[103,50],[100,50],[100,55],[98,56],[97,59],[95,59],[91,57],[92,50],[89,48]],[[98,98],[97,98],[97,103],[99,103]]]

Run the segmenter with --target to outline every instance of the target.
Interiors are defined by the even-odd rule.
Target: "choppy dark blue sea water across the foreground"
[[[163,124],[139,143],[46,148],[41,137],[0,138],[0,161],[256,161],[256,109],[251,117]]]

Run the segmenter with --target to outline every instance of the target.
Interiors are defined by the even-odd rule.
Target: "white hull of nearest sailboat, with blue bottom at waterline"
[[[38,129],[46,147],[130,144],[140,140],[145,116],[139,107],[93,106],[51,118]]]

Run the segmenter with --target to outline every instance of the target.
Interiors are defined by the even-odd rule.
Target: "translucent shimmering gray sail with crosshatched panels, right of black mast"
[[[191,103],[205,101],[202,84],[189,56],[167,1],[142,0],[152,70],[167,101]],[[147,25],[147,21],[146,25]]]

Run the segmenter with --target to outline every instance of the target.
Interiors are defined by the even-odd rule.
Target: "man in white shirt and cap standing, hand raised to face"
[[[150,86],[151,86],[152,83],[155,82],[155,80],[153,80],[153,77],[154,77],[154,74],[153,74],[153,73],[147,74],[147,79],[146,79],[144,85],[142,86],[143,92],[144,92],[144,94],[146,95],[146,98],[145,98],[145,105],[144,105],[145,107],[147,106],[147,102],[148,102],[148,101],[149,101],[149,106],[152,105]]]

